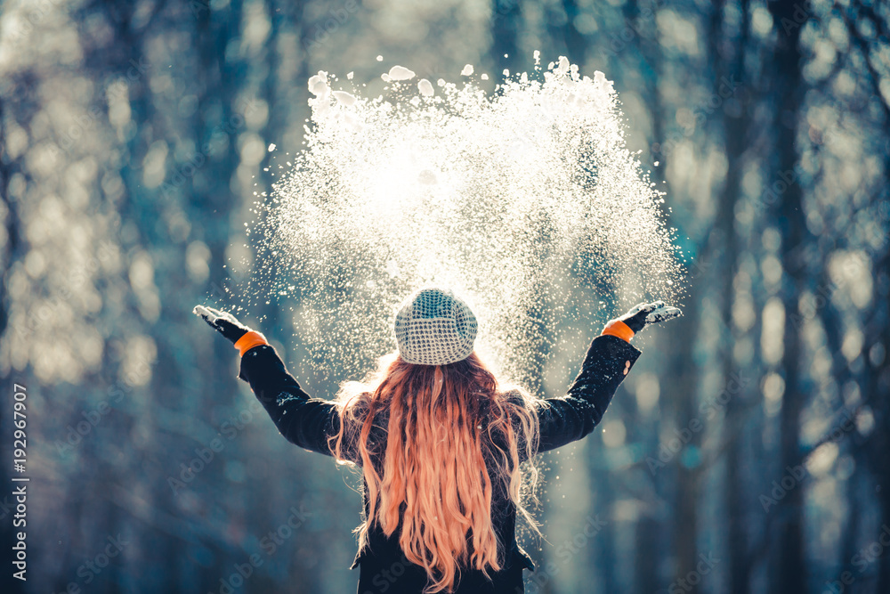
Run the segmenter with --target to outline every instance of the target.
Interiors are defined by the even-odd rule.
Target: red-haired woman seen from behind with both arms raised
[[[421,289],[396,313],[398,350],[334,402],[303,392],[263,335],[230,313],[200,305],[195,313],[239,349],[239,378],[281,435],[361,468],[358,594],[516,594],[522,568],[534,571],[514,534],[517,512],[531,520],[520,465],[593,431],[640,355],[630,339],[680,310],[659,301],[610,321],[568,393],[539,399],[499,386],[476,356],[476,318],[464,300]],[[530,475],[533,492],[533,467]]]

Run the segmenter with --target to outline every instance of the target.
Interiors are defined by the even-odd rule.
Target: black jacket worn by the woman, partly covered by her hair
[[[554,450],[590,434],[625,378],[627,362],[633,367],[639,356],[640,351],[621,338],[608,335],[594,338],[578,378],[567,394],[538,401],[538,452]],[[244,354],[239,378],[250,384],[288,441],[312,452],[331,455],[328,436],[335,435],[340,428],[334,403],[303,392],[274,348],[256,346]],[[492,481],[492,484],[499,483]],[[495,531],[510,551],[506,567],[492,575],[492,582],[487,582],[478,570],[464,570],[455,594],[522,594],[522,568],[535,569],[531,558],[516,542],[514,504],[498,491],[493,493],[492,500]],[[364,503],[367,517],[367,495]],[[404,557],[398,533],[389,539],[379,527],[368,533],[368,548],[356,555],[351,567],[360,566],[358,594],[419,594],[425,587],[425,571]]]

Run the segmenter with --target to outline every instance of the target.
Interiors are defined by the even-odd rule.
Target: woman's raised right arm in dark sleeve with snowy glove
[[[658,301],[637,305],[606,324],[603,333],[587,348],[578,378],[566,395],[538,401],[538,452],[554,450],[593,432],[641,354],[630,339],[646,324],[678,315],[681,313],[676,307]]]

